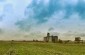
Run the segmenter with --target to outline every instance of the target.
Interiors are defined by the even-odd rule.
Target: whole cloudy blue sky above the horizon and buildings
[[[0,40],[85,39],[85,0],[0,0]]]

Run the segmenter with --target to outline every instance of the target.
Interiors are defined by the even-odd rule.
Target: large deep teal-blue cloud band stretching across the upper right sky
[[[65,19],[68,19],[72,14],[79,13],[81,17],[84,18],[84,2],[80,0],[49,0],[45,5],[44,0],[37,1],[32,0],[32,3],[27,7],[25,14],[30,18],[38,20],[38,23],[44,23],[49,20],[55,12],[60,10],[65,10]],[[83,9],[83,10],[82,10]],[[29,12],[31,11],[31,12]],[[82,14],[83,12],[83,14]],[[32,13],[32,14],[29,14]],[[47,19],[46,19],[47,18]]]

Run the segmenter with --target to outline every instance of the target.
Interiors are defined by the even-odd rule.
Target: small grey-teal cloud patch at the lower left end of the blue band
[[[37,26],[36,21],[34,19],[20,20],[17,21],[15,25],[18,26],[19,29],[22,31],[31,31],[32,28],[35,28]]]

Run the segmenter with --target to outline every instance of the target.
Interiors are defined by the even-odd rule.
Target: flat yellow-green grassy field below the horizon
[[[85,55],[85,44],[0,42],[0,55]]]

